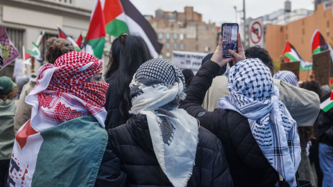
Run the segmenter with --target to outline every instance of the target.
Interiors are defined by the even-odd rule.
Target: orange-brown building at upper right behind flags
[[[285,25],[266,25],[266,49],[273,58],[279,60],[286,41],[290,42],[307,62],[312,62],[311,37],[319,29],[326,42],[333,46],[332,6],[319,3],[316,11],[308,17]],[[300,72],[300,80],[307,80],[308,72]]]

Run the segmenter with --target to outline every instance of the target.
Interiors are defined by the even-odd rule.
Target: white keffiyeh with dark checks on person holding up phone
[[[296,186],[300,139],[296,121],[279,101],[270,70],[259,59],[238,62],[229,71],[230,96],[219,100],[221,109],[232,109],[248,118],[251,132],[271,163],[290,186]]]

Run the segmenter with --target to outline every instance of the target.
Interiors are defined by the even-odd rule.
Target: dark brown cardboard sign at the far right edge
[[[330,50],[316,53],[312,56],[312,59],[314,60],[314,79],[321,83],[321,85],[329,84],[331,68]]]

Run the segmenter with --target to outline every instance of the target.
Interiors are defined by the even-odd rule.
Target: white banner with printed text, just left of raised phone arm
[[[173,65],[178,66],[180,71],[184,69],[191,69],[195,75],[201,67],[203,57],[205,57],[206,55],[206,53],[173,51],[172,62]]]

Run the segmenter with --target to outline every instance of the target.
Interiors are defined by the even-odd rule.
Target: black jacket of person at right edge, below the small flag
[[[327,94],[321,98],[321,103],[327,98],[330,98],[330,94]],[[327,112],[319,112],[316,123],[314,123],[314,136],[319,141],[319,143],[325,143],[327,145],[333,146],[333,109]]]

